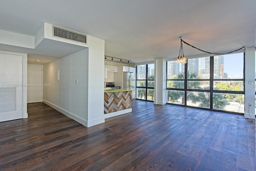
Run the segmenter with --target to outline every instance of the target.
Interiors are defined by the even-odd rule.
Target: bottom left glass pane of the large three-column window
[[[185,91],[167,90],[167,102],[184,105]]]

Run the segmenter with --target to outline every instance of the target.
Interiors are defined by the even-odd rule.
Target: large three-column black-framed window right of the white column
[[[244,53],[167,62],[167,102],[244,113]]]

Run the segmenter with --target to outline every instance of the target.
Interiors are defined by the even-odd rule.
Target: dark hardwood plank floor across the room
[[[87,128],[30,103],[28,119],[0,123],[0,170],[254,171],[255,123],[243,115],[139,100],[132,106]]]

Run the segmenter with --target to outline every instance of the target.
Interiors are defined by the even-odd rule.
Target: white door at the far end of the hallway
[[[28,64],[28,99],[27,103],[41,102],[42,101],[42,65]]]

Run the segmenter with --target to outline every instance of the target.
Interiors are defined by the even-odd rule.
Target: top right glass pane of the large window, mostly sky
[[[214,56],[214,79],[242,79],[244,53]]]

